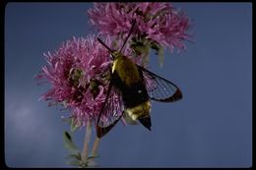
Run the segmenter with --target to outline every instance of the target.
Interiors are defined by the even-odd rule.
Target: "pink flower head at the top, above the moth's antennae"
[[[151,46],[166,46],[171,52],[174,47],[185,49],[183,40],[190,39],[189,18],[169,3],[95,3],[88,13],[100,33],[122,38],[136,20],[137,41],[147,39]]]

